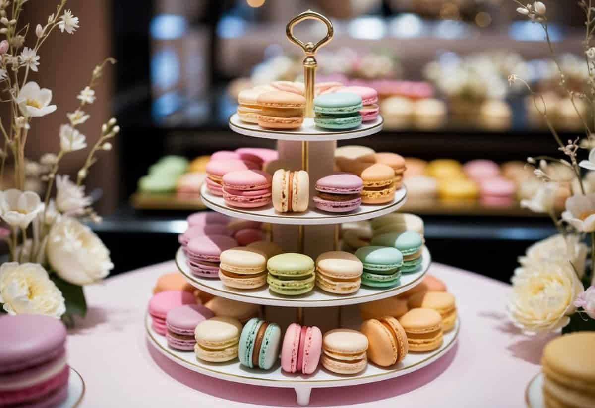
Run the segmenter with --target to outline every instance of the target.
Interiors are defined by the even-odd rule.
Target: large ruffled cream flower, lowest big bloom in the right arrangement
[[[507,306],[513,324],[526,334],[542,334],[565,327],[583,290],[570,265],[540,262],[517,268]]]

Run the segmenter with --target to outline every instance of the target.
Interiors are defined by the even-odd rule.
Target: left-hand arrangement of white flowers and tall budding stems
[[[58,174],[65,155],[87,149],[79,127],[88,119],[83,108],[95,101],[93,89],[107,58],[93,70],[90,82],[76,97],[76,109],[60,126],[60,151],[45,153],[39,162],[25,158],[27,136],[35,119],[51,114],[52,91],[40,87],[30,77],[40,67],[40,47],[53,32],[74,34],[79,18],[65,10],[67,0],[57,5],[45,24],[20,24],[23,5],[29,0],[0,0],[0,102],[10,104],[10,118],[0,118],[4,149],[0,151],[0,180],[8,161],[14,163],[14,188],[0,192],[0,238],[10,249],[10,262],[0,266],[0,305],[10,314],[35,313],[62,318],[73,324],[73,315],[84,316],[83,285],[95,283],[113,268],[109,251],[83,221],[101,221],[85,195],[83,181],[101,150],[111,150],[110,139],[120,131],[111,118],[102,125],[98,141],[88,149],[76,181]],[[27,34],[35,36],[31,47],[24,46]],[[33,37],[31,35],[30,37]],[[33,42],[32,42],[33,44]],[[35,164],[40,181],[46,183],[45,197],[27,190],[27,168]],[[55,187],[55,189],[54,189]],[[52,198],[52,193],[55,196]]]

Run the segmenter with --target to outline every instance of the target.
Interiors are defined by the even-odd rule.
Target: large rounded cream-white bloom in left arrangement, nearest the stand
[[[63,216],[50,230],[46,255],[58,276],[76,285],[99,281],[114,268],[99,237],[69,216]]]

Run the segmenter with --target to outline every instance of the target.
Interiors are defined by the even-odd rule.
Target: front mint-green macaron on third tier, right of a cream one
[[[403,255],[396,248],[366,246],[355,252],[364,264],[362,284],[371,287],[392,287],[399,284]]]

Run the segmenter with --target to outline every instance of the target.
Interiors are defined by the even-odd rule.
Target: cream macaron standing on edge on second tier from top
[[[305,170],[279,169],[273,174],[273,206],[278,212],[302,212],[308,209],[310,178]]]

